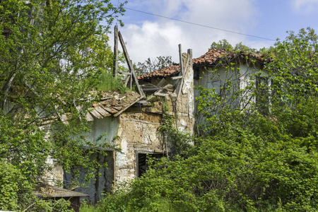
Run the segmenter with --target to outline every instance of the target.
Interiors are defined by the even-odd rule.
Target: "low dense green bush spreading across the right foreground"
[[[196,139],[189,158],[163,158],[128,192],[105,196],[102,211],[315,211],[317,141],[261,116],[250,122]]]

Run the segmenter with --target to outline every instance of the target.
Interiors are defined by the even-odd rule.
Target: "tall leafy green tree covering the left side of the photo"
[[[30,187],[51,168],[49,156],[66,170],[98,165],[81,148],[85,137],[75,135],[88,131],[90,90],[112,58],[105,34],[122,6],[108,0],[0,1],[0,158]],[[63,114],[71,114],[67,124]],[[23,198],[30,192],[18,189],[18,208],[28,207]]]

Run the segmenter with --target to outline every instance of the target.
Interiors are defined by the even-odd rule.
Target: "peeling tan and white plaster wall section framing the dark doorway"
[[[159,131],[161,115],[156,113],[121,114],[116,153],[116,180],[123,182],[137,175],[137,152],[163,153],[163,139]]]

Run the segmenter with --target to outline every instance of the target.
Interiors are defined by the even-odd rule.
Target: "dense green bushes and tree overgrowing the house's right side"
[[[317,41],[308,28],[277,42],[265,66],[271,84],[257,85],[255,73],[244,90],[230,80],[222,93],[199,88],[189,154],[163,158],[95,210],[317,211]]]

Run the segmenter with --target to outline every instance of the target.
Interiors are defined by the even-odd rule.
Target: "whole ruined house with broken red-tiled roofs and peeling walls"
[[[193,134],[195,98],[199,95],[194,87],[220,89],[225,77],[228,77],[225,66],[220,63],[225,60],[235,61],[235,76],[240,76],[235,77],[235,81],[239,88],[247,86],[252,73],[264,65],[261,54],[232,55],[224,49],[211,49],[201,57],[192,59],[192,52],[189,51],[182,54],[183,69],[175,65],[138,77],[148,97],[133,92],[125,95],[116,93],[95,102],[86,116],[92,122],[89,139],[96,141],[106,134],[106,142],[118,146],[121,151],[109,148],[106,157],[95,155],[92,159],[106,162],[107,169],[100,168],[101,176],[92,179],[90,187],[80,187],[75,191],[90,195],[86,199],[95,203],[102,198],[102,192],[112,192],[115,184],[141,176],[147,167],[146,154],[154,157],[169,154],[170,143],[159,130],[164,104],[168,105],[170,114],[178,117],[178,129]],[[252,63],[252,60],[256,62]],[[218,73],[217,80],[213,78],[212,70]],[[56,167],[51,177],[63,180],[64,184],[72,179],[70,174],[63,172],[62,167]]]

